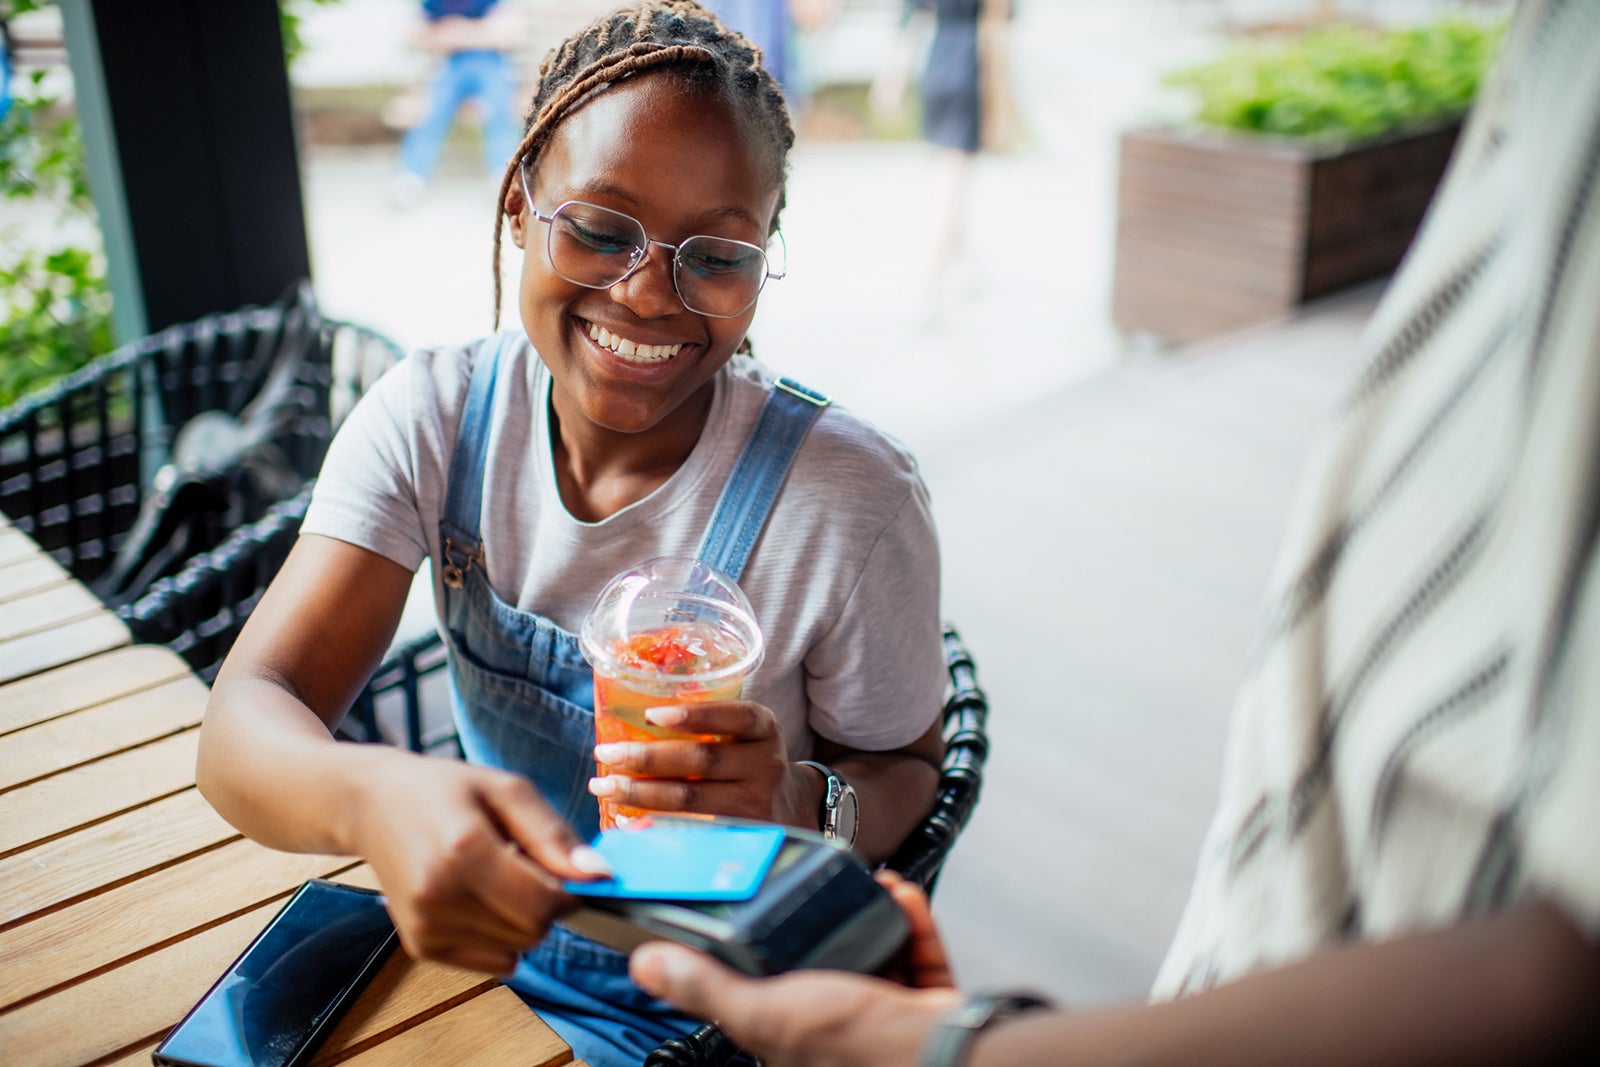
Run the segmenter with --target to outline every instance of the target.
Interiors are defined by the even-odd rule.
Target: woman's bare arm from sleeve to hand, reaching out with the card
[[[376,553],[301,537],[211,688],[198,784],[264,845],[366,859],[414,958],[504,974],[571,905],[558,880],[598,857],[520,776],[333,739],[410,585]]]

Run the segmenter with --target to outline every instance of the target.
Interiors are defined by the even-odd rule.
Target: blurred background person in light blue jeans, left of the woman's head
[[[413,43],[440,58],[427,88],[426,112],[400,141],[400,173],[390,200],[414,203],[427,189],[445,139],[464,106],[482,118],[483,171],[499,174],[517,150],[520,130],[512,115],[517,70],[509,48],[522,24],[499,0],[422,0]]]

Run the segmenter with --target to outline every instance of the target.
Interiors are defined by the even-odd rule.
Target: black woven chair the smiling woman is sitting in
[[[944,627],[944,661],[950,694],[944,702],[944,766],[928,816],[885,864],[907,881],[933,891],[944,859],[978,805],[989,758],[989,697],[978,688],[973,657],[960,635]],[[725,1067],[739,1048],[714,1022],[664,1041],[645,1057],[645,1067]]]

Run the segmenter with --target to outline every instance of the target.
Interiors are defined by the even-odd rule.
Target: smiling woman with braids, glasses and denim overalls
[[[597,873],[597,797],[819,830],[850,787],[856,848],[882,861],[938,779],[915,462],[746,341],[781,275],[792,141],[758,53],[696,3],[629,6],[552,51],[496,202],[520,330],[413,354],[349,416],[203,728],[226,817],[368,859],[411,955],[507,976],[594,1067],[696,1025],[550,926],[573,907],[550,886]],[[576,630],[653,557],[738,581],[766,654],[742,699],[672,712],[706,739],[608,752],[597,774]],[[330,737],[422,560],[467,763]]]

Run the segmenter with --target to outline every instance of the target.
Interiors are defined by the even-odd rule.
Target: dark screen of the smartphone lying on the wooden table
[[[382,896],[307,881],[166,1035],[155,1062],[293,1067],[314,1051],[395,942]]]

